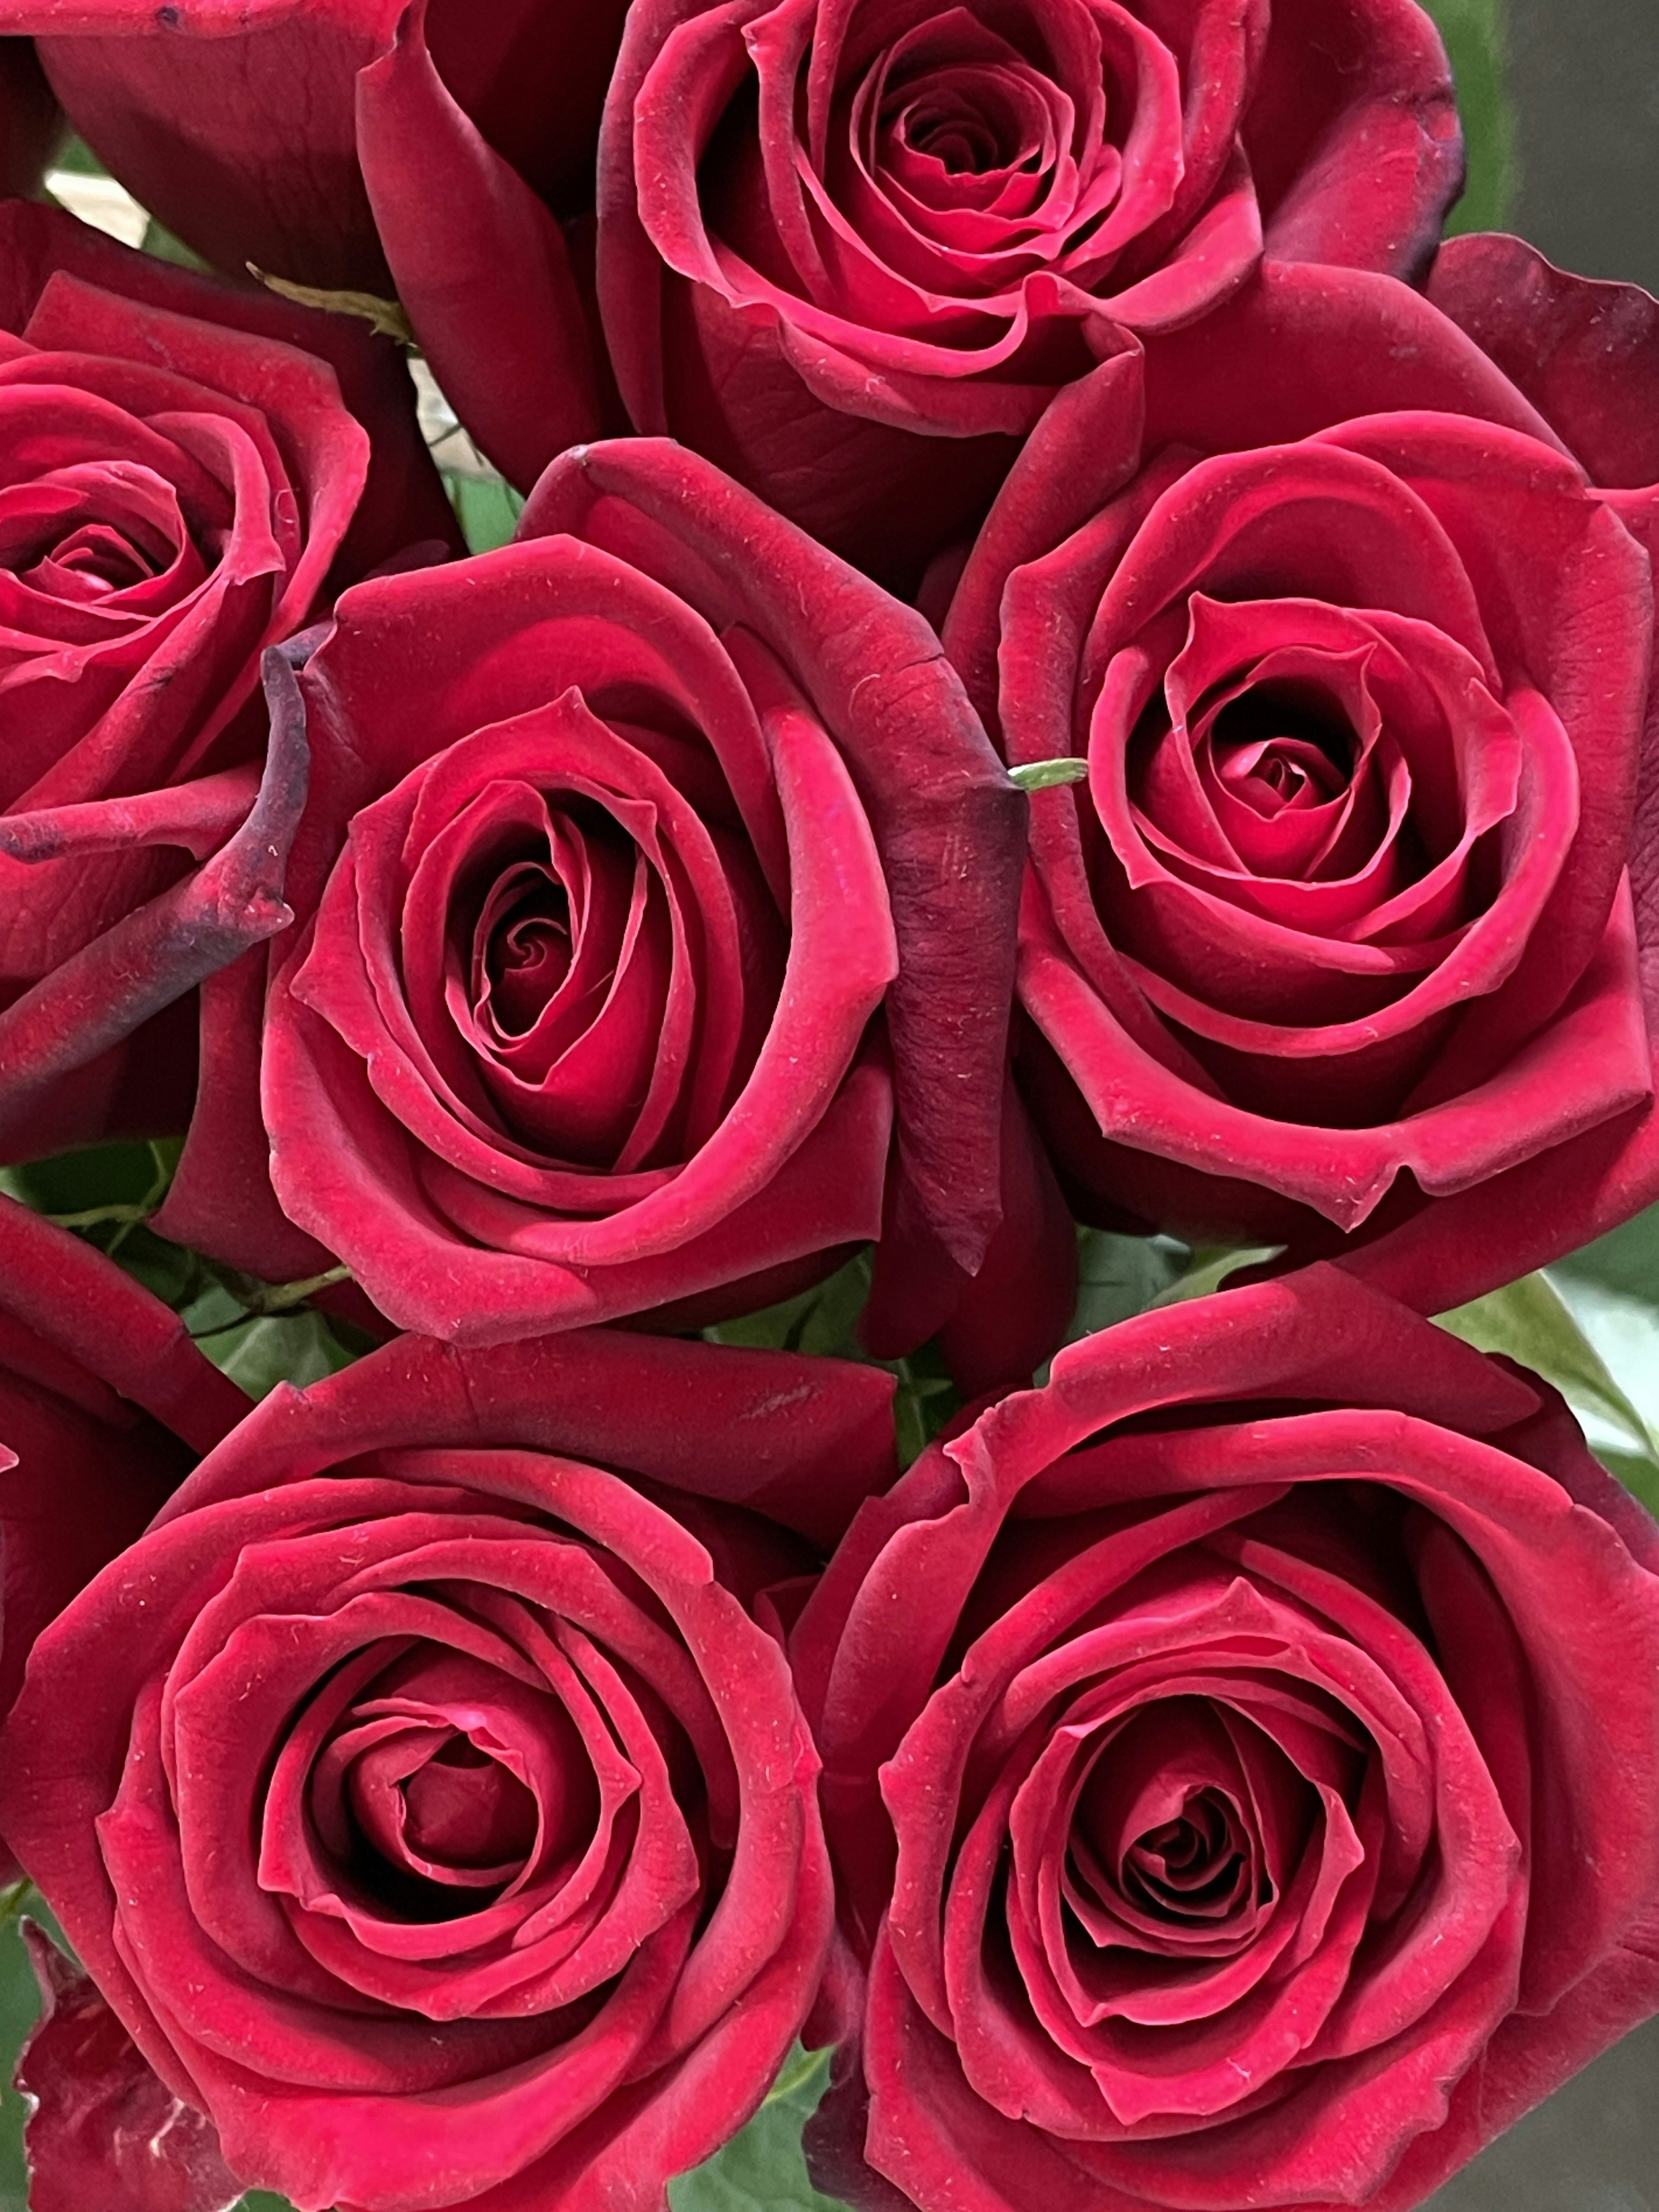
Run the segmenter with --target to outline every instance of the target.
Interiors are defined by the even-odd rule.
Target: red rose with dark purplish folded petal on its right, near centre
[[[1000,1212],[1024,799],[918,615],[635,440],[345,593],[272,697],[303,927],[263,1042],[210,1000],[168,1234],[491,1343],[748,1312],[887,1223],[938,1325]]]

